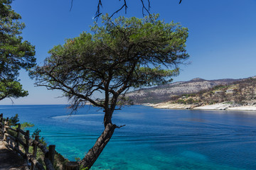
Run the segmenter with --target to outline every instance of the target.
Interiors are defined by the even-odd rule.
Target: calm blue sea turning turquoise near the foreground
[[[41,129],[64,157],[84,157],[104,130],[102,110],[78,113],[63,105],[0,106],[4,117]],[[124,107],[113,114],[117,129],[92,169],[256,169],[256,112]]]

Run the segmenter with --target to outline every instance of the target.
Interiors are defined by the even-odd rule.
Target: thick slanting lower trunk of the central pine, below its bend
[[[95,142],[95,145],[92,147],[92,149],[87,152],[85,157],[82,159],[80,164],[84,168],[89,168],[95,163],[97,158],[100,156],[100,153],[104,149],[104,147],[107,145],[107,142],[110,141],[110,138],[112,137],[114,133],[114,129],[117,128],[117,125],[113,125],[112,123],[108,123],[105,127],[105,130],[102,132],[102,135],[97,139]]]

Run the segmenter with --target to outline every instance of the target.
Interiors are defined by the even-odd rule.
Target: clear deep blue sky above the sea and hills
[[[256,75],[256,0],[151,0],[151,13],[159,13],[166,22],[178,22],[188,27],[187,51],[191,56],[181,74],[174,81],[202,79],[240,79]],[[129,0],[127,14],[142,18],[142,4]],[[145,1],[146,3],[146,1]],[[65,38],[74,38],[82,31],[90,31],[97,1],[73,0],[16,0],[12,7],[26,24],[23,40],[36,45],[38,64],[48,56],[54,45]],[[113,13],[122,1],[102,0],[102,13]],[[100,20],[98,20],[100,22]],[[20,75],[23,89],[29,96],[14,100],[14,104],[65,104],[58,98],[61,91],[34,87],[34,80],[26,72]],[[0,104],[11,104],[5,99]]]

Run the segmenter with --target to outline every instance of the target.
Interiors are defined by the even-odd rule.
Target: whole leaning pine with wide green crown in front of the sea
[[[188,58],[188,29],[158,17],[112,21],[103,16],[102,26],[92,26],[94,34],[82,33],[53,47],[45,64],[33,72],[37,86],[63,91],[73,110],[86,102],[103,109],[105,130],[80,162],[82,166],[90,168],[120,128],[112,123],[112,114],[124,104],[126,91],[168,83],[178,75],[178,64]],[[94,99],[96,91],[105,98]]]

